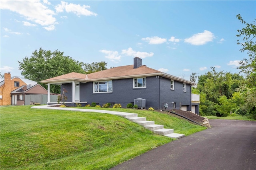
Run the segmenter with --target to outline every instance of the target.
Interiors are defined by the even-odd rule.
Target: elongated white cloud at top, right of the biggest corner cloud
[[[66,12],[72,12],[77,16],[97,16],[96,13],[89,11],[89,8],[90,6],[88,5],[80,6],[80,4],[68,4],[68,2],[64,1],[61,1],[61,4],[55,6],[55,10],[57,13],[63,12],[65,10]]]

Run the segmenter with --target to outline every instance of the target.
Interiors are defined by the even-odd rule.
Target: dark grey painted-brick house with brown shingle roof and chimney
[[[129,103],[141,102],[142,105],[145,103],[143,108],[146,109],[164,109],[164,103],[168,104],[169,110],[192,109],[191,86],[194,82],[142,65],[142,59],[138,57],[134,58],[133,65],[91,74],[72,72],[41,82],[48,84],[47,104],[54,104],[50,102],[50,84],[59,84],[61,94],[66,91],[66,104],[72,106],[76,103],[85,106],[96,102],[100,106],[110,103],[126,107]],[[199,104],[195,112],[199,113]]]

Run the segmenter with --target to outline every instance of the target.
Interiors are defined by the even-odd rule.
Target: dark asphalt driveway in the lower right
[[[256,121],[209,121],[212,128],[162,145],[111,170],[256,170]]]

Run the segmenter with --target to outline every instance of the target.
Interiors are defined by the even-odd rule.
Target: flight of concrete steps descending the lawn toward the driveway
[[[174,133],[173,129],[165,129],[164,125],[156,125],[154,121],[147,121],[146,117],[138,117],[138,114],[134,115],[134,117],[126,117],[126,119],[138,123],[139,125],[144,126],[146,129],[149,129],[158,135],[164,135],[174,139],[185,136],[183,134]]]

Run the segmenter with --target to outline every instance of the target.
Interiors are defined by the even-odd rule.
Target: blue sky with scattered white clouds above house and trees
[[[42,47],[84,63],[142,64],[189,80],[238,73],[246,53],[237,29],[256,18],[256,1],[1,0],[1,72],[22,76],[18,61]]]

